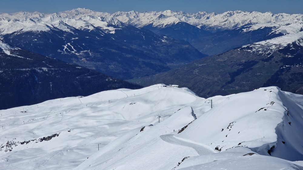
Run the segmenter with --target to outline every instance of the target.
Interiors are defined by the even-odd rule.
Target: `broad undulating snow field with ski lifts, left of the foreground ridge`
[[[88,97],[55,99],[37,105],[1,110],[3,131],[0,133],[0,143],[4,147],[0,151],[0,159],[10,163],[2,164],[2,168],[8,166],[10,169],[24,165],[27,165],[28,169],[75,168],[98,151],[98,143],[101,143],[101,149],[130,130],[157,124],[158,115],[161,116],[160,121],[163,121],[196,100],[204,99],[183,89],[155,85],[138,90],[104,91]],[[185,119],[186,122],[178,127],[171,125],[163,129],[156,135],[158,138],[159,135],[165,134],[165,131],[172,133],[174,129],[188,124],[187,121],[194,120],[191,107],[179,112],[183,110],[188,110],[188,117],[191,119]],[[53,134],[58,136],[55,135],[48,141],[39,141],[40,138]],[[20,144],[29,140],[34,141]],[[11,152],[4,151],[8,141],[17,144],[12,146]],[[28,150],[37,150],[39,154],[31,158],[20,156],[26,155]],[[59,152],[61,154],[58,154]],[[77,159],[71,162],[70,159],[65,159],[65,156]],[[19,159],[25,159],[26,162],[18,161]]]

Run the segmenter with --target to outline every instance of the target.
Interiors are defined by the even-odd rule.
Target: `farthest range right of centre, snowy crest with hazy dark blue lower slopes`
[[[116,12],[107,15],[125,24],[152,30],[159,35],[186,40],[207,55],[303,30],[302,14],[246,11],[191,14],[167,10]]]

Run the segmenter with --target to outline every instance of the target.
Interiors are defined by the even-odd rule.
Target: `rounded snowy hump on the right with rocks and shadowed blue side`
[[[232,95],[199,117],[179,137],[208,144],[218,151],[245,146],[264,155],[268,152],[289,160],[303,159],[301,144],[293,142],[303,140],[297,134],[297,128],[303,126],[303,98],[297,100],[288,98],[277,87]]]

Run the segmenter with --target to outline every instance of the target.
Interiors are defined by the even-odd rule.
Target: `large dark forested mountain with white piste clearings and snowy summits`
[[[121,79],[168,71],[206,56],[183,40],[86,9],[0,18],[0,34],[13,46]]]

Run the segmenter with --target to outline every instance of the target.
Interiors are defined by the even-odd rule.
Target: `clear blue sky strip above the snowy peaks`
[[[114,13],[116,11],[217,12],[259,11],[303,14],[303,0],[1,0],[0,12],[18,11],[54,13],[74,8]]]

